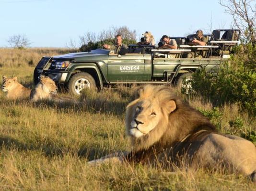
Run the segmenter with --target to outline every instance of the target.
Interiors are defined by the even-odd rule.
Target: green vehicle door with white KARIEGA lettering
[[[143,54],[109,54],[107,67],[108,81],[143,81],[144,69]]]

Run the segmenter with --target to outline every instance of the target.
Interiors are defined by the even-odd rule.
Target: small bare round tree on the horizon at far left
[[[8,42],[11,47],[18,48],[18,49],[23,49],[25,47],[28,47],[31,44],[29,39],[24,34],[12,35],[10,36]]]

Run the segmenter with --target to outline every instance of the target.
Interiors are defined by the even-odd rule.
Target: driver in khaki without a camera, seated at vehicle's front
[[[114,50],[115,53],[125,54],[128,52],[128,46],[122,43],[123,38],[121,34],[116,35],[116,43],[114,45],[103,44],[103,48]]]

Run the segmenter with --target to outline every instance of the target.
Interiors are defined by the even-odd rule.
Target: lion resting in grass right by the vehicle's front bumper
[[[70,97],[58,96],[57,91],[58,87],[55,82],[48,76],[42,75],[40,77],[40,82],[31,91],[30,100],[34,102],[42,99],[54,100],[57,102],[75,102],[75,100]]]

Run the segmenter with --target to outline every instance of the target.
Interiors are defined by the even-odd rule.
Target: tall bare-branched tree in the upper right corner
[[[256,45],[256,4],[255,0],[220,0],[219,3],[232,15],[233,24],[240,31],[245,42]]]

